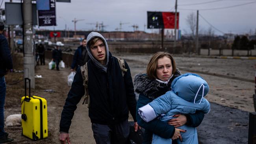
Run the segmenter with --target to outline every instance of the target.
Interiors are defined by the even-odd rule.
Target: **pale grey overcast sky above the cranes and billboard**
[[[4,0],[4,2],[8,2],[8,0]],[[174,5],[175,0],[71,0],[71,3],[57,2],[58,26],[55,29],[64,30],[65,24],[67,24],[70,30],[74,30],[72,20],[76,18],[84,19],[76,23],[77,30],[92,30],[95,29],[95,25],[87,23],[103,22],[104,25],[107,25],[105,30],[115,31],[116,28],[120,27],[120,22],[129,22],[129,24],[122,25],[122,30],[133,31],[131,26],[137,24],[138,30],[143,31],[144,25],[147,25],[147,11],[175,11]],[[221,7],[231,8],[204,10]],[[190,33],[186,22],[187,15],[196,14],[197,9],[203,18],[224,33],[242,34],[249,33],[250,30],[255,33],[256,0],[178,0],[180,30],[183,34]],[[202,17],[199,17],[200,30],[208,30],[210,25]],[[41,28],[53,29],[52,26]],[[147,26],[145,30],[147,32],[152,31],[147,29]],[[214,32],[222,35],[217,30]]]

